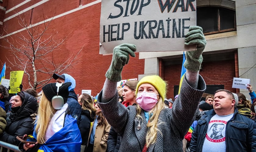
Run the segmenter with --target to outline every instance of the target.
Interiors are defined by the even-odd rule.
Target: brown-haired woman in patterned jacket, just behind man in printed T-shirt
[[[247,100],[242,93],[236,93],[238,96],[238,105],[236,106],[238,113],[251,118],[251,101]]]

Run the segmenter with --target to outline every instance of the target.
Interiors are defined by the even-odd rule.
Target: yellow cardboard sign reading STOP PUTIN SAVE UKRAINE
[[[10,72],[10,90],[9,93],[20,92],[20,84],[22,82],[24,71]]]

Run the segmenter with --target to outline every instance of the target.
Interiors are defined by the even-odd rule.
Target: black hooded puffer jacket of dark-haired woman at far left
[[[33,133],[33,120],[30,117],[37,110],[37,99],[24,92],[25,98],[20,109],[16,113],[10,112],[6,119],[7,125],[0,140],[13,145],[19,145],[20,141],[16,136]]]

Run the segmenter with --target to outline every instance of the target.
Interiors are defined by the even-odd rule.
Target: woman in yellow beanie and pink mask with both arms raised
[[[135,57],[136,47],[121,44],[114,48],[98,101],[109,124],[122,137],[120,151],[182,151],[182,140],[206,89],[203,78],[198,74],[206,45],[202,28],[191,26],[185,44],[196,44],[197,50],[186,53],[184,67],[187,73],[172,109],[165,108],[164,104],[166,82],[156,75],[146,76],[137,84],[137,106],[126,108],[118,102],[116,85],[122,79],[121,72],[128,64],[129,55]],[[166,146],[169,143],[172,146]]]

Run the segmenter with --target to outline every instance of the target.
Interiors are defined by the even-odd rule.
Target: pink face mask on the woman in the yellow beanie
[[[157,94],[151,92],[140,92],[137,94],[136,101],[143,110],[150,111],[158,102]]]

